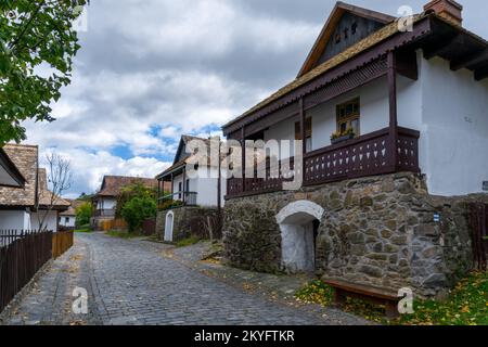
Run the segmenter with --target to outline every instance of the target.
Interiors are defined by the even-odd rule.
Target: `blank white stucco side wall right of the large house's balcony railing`
[[[488,81],[422,60],[422,171],[432,194],[483,191],[488,181]]]

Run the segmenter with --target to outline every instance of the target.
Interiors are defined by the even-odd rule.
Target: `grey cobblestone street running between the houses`
[[[3,324],[364,324],[338,310],[244,291],[171,256],[171,246],[76,234],[75,246],[44,269]],[[239,271],[232,269],[232,271]],[[240,275],[241,278],[243,275]],[[86,288],[89,313],[74,314]]]

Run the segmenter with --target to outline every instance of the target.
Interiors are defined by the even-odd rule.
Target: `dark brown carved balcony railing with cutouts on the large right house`
[[[310,187],[396,171],[420,172],[419,138],[419,131],[398,128],[396,163],[394,163],[395,152],[391,151],[389,128],[307,153],[304,157],[304,185]],[[256,178],[255,175],[255,178],[245,180],[229,179],[228,197],[282,190],[283,182],[293,180],[295,175],[295,165],[293,159],[291,162],[288,169],[284,163],[279,163],[278,170],[274,170],[279,172],[279,177],[270,175],[272,170],[268,162],[266,178]]]

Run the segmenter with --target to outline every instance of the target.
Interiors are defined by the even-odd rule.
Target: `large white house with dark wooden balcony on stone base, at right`
[[[488,201],[488,42],[462,11],[435,0],[396,18],[337,2],[296,79],[223,126],[243,146],[304,140],[298,191],[282,189],[281,164],[279,177],[246,177],[245,155],[228,180],[231,265],[420,296],[472,269],[466,202]]]

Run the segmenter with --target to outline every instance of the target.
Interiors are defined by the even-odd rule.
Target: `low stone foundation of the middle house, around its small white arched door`
[[[208,218],[210,219],[210,223],[213,226],[213,237],[221,237],[219,228],[217,228],[217,208],[180,207],[157,213],[156,235],[158,240],[164,241],[166,215],[169,211],[172,211],[174,214],[174,242],[190,237],[191,235],[198,236],[203,240],[208,240],[210,237]]]

